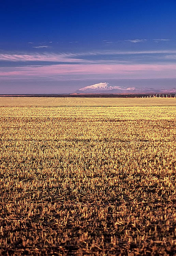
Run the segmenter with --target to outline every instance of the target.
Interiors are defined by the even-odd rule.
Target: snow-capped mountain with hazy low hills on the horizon
[[[121,87],[121,86],[112,86],[109,83],[99,83],[89,85],[83,88],[76,90],[75,93],[78,94],[151,94],[151,93],[161,93],[161,94],[169,94],[169,93],[176,93],[176,88],[172,89],[154,89],[154,88],[138,88],[138,87]]]

